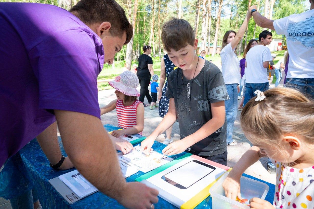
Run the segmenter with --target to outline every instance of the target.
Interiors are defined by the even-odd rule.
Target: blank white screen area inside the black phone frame
[[[202,179],[204,176],[208,175],[212,171],[213,169],[211,168],[191,161],[179,167],[178,169],[173,170],[170,173],[166,174],[165,177],[188,188],[189,186],[191,186],[198,180]]]

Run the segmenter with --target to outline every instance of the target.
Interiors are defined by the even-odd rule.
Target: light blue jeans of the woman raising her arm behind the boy
[[[230,144],[232,139],[233,125],[238,112],[238,84],[226,84],[226,89],[230,99],[225,100],[226,118],[227,118],[227,144]]]

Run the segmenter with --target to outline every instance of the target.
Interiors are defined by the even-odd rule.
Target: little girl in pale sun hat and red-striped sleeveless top
[[[123,128],[122,130],[113,131],[111,135],[116,138],[124,134],[138,133],[142,135],[144,129],[144,105],[137,99],[140,95],[136,89],[139,85],[138,77],[131,71],[124,71],[119,76],[116,76],[114,81],[109,81],[108,83],[116,89],[117,99],[100,108],[100,115],[116,109],[118,126]]]

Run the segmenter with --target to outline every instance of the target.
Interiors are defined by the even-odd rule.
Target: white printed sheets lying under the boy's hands
[[[134,150],[131,150],[127,154],[118,153],[118,158],[120,161],[144,173],[154,170],[155,168],[173,160],[172,158],[155,151],[150,155],[146,155],[142,153],[140,145],[135,146]]]

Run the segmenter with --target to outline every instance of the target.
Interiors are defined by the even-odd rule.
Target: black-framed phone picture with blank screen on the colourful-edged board
[[[215,167],[198,160],[192,160],[187,164],[165,174],[162,180],[180,189],[187,189],[215,170]]]

